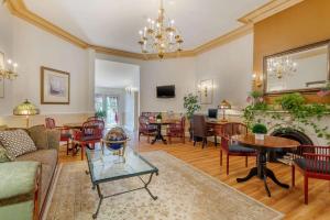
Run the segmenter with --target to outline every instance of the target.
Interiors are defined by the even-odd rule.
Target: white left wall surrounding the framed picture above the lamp
[[[6,81],[4,98],[0,98],[0,121],[8,122],[3,118],[11,116],[12,109],[24,99],[35,103],[43,116],[85,116],[94,110],[89,96],[94,87],[94,81],[90,86],[92,63],[89,59],[94,53],[12,16],[3,6],[0,7],[0,51],[19,63],[19,77]],[[70,73],[70,105],[41,105],[41,66]]]

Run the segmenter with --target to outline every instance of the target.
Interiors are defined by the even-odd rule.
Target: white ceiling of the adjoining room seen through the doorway
[[[139,88],[140,67],[132,64],[96,59],[95,86],[107,88]]]

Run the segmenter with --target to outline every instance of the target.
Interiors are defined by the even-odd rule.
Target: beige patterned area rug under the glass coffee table
[[[103,200],[101,220],[222,220],[282,219],[283,215],[239,193],[234,188],[194,168],[165,152],[143,153],[160,175],[154,176],[151,191],[138,190]],[[47,220],[91,219],[98,196],[85,174],[86,162],[64,164],[47,210]],[[101,185],[103,195],[140,187],[138,177]]]

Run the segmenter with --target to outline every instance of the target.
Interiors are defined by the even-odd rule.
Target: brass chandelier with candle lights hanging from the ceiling
[[[139,31],[142,53],[156,53],[160,58],[163,58],[165,53],[182,52],[184,40],[174,23],[174,20],[166,16],[161,0],[158,18],[147,19],[147,26]]]

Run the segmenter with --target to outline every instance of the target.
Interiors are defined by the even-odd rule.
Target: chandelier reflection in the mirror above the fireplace
[[[289,56],[274,57],[267,61],[267,73],[270,76],[282,79],[285,75],[297,72],[297,63]]]

